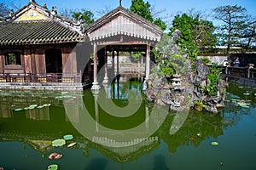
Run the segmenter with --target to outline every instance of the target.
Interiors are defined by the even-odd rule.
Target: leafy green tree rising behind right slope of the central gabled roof
[[[144,3],[143,0],[131,0],[130,10],[134,14],[137,14],[144,19],[154,23],[156,26],[160,26],[162,31],[166,30],[166,23],[161,20],[160,17],[154,19],[151,11],[151,5],[148,2]]]

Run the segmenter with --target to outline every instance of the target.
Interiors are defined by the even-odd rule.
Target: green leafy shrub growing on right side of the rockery
[[[210,74],[207,75],[207,79],[209,79],[211,83],[205,86],[204,88],[204,92],[207,95],[215,96],[218,94],[218,80],[221,79],[219,77],[220,72],[221,69],[218,68],[217,64],[212,65],[212,67],[210,67]]]

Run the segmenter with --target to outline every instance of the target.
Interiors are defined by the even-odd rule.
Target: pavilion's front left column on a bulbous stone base
[[[97,81],[97,45],[96,42],[93,43],[93,54],[94,54],[94,60],[93,60],[93,82],[92,82],[92,90],[99,90],[101,87],[99,85],[99,82]]]

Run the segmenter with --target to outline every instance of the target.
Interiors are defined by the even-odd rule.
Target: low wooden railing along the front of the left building
[[[61,82],[61,83],[79,83],[82,82],[81,73],[76,74],[0,74],[0,82]]]

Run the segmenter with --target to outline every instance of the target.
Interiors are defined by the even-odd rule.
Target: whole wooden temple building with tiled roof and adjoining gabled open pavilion
[[[82,20],[68,20],[55,7],[49,10],[34,1],[0,20],[0,29],[2,89],[83,90],[91,82],[91,88],[99,89],[113,73],[106,65],[108,54],[118,62],[122,51],[145,52],[147,79],[149,51],[162,34],[160,27],[121,4],[84,27]]]

